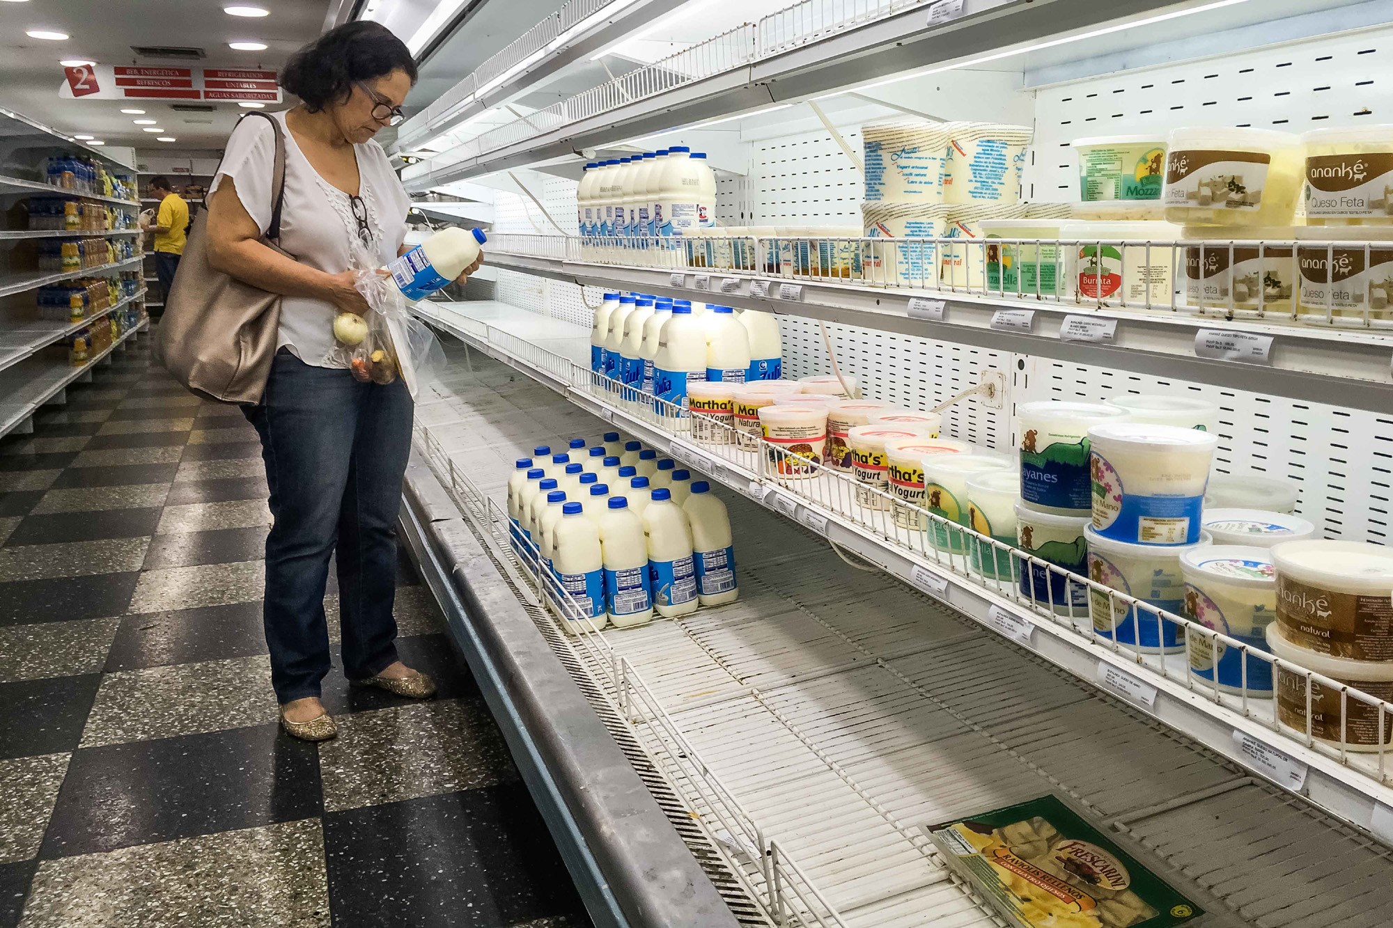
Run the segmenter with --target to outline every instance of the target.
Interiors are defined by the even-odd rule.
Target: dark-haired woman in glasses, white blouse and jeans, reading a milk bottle
[[[301,49],[281,85],[299,105],[270,118],[286,150],[280,254],[272,226],[276,130],[248,116],[227,142],[209,194],[208,251],[216,270],[283,294],[277,351],[256,428],[274,525],[266,539],[266,644],[287,732],[330,738],[319,701],[329,672],[325,582],[337,552],[344,674],[397,695],[428,698],[435,683],[397,659],[396,594],[401,479],[412,401],[401,378],[355,379],[336,351],[340,312],[364,315],[355,249],[386,265],[407,249],[410,201],[372,141],[397,125],[417,79],[407,46],[376,22],[350,22]],[[458,277],[462,283],[475,262]]]

